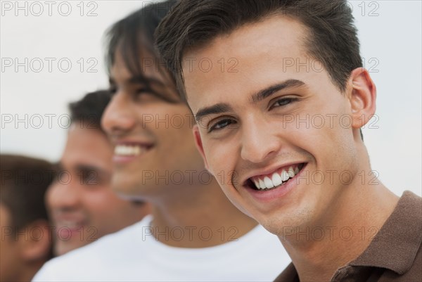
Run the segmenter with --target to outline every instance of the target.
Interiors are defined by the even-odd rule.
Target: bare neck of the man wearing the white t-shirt
[[[207,248],[233,241],[257,226],[226,198],[217,181],[175,187],[153,203],[155,238],[179,248]]]

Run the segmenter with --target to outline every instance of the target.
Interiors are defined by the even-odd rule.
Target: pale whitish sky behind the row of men
[[[51,11],[45,1],[32,2],[19,1],[18,10],[15,1],[1,1],[0,151],[55,161],[67,124],[66,116],[58,117],[68,114],[68,102],[108,86],[103,32],[151,1],[53,1]],[[371,123],[378,128],[364,129],[372,168],[397,195],[411,190],[421,196],[421,1],[349,4],[378,89],[378,120]],[[27,72],[15,70],[15,58],[27,58]],[[27,124],[16,122],[26,114]]]

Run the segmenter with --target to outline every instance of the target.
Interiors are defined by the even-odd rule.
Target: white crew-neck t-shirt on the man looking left
[[[174,248],[151,235],[151,219],[46,262],[32,281],[273,281],[290,263],[279,238],[260,225],[215,247]]]

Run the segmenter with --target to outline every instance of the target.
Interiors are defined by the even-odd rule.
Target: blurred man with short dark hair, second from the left
[[[55,255],[139,222],[150,212],[148,204],[123,200],[111,189],[113,146],[101,129],[109,102],[109,91],[96,91],[69,105],[68,140],[58,177],[46,193]]]

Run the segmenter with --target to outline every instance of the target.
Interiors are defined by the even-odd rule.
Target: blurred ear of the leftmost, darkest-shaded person
[[[28,224],[25,237],[20,236],[20,255],[26,262],[36,262],[49,258],[52,240],[49,224],[44,219],[38,219]]]

